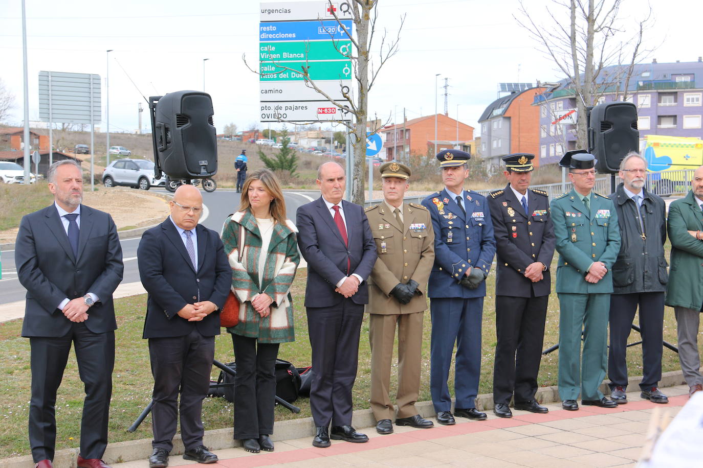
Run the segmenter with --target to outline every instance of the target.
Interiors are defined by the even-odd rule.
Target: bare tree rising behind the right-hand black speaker
[[[529,31],[567,77],[567,88],[576,98],[577,147],[586,148],[586,107],[595,105],[604,93],[628,98],[634,66],[653,49],[643,47],[643,32],[651,26],[652,11],[637,21],[635,34],[626,33],[620,8],[624,0],[552,0],[546,6],[548,24],[539,24],[520,1],[522,18],[515,20]],[[609,75],[605,67],[614,67]]]

